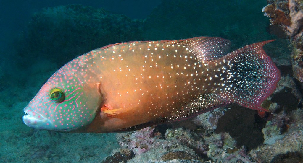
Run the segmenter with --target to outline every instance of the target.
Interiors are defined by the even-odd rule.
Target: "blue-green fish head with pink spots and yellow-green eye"
[[[24,123],[35,129],[59,132],[90,124],[103,98],[96,84],[85,81],[79,72],[59,69],[24,108]]]

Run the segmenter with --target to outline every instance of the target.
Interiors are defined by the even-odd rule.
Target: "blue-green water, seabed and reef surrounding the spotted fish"
[[[271,21],[261,11],[267,5]],[[0,162],[303,162],[301,5],[299,0],[0,0]],[[286,31],[292,28],[295,34]],[[196,36],[229,39],[231,51],[276,39],[264,47],[282,75],[263,103],[271,113],[260,117],[231,104],[118,134],[35,130],[22,121],[24,107],[45,81],[79,55],[118,42]]]

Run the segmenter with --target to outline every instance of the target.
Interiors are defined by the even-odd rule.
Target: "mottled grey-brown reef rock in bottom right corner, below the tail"
[[[283,112],[274,114],[273,118],[262,129],[265,145],[258,146],[251,150],[249,154],[254,160],[262,160],[262,162],[272,162],[279,158],[281,154],[287,155],[289,152],[299,152],[302,155],[302,122],[302,109],[292,110],[289,114]],[[285,126],[287,126],[287,129],[285,129]]]

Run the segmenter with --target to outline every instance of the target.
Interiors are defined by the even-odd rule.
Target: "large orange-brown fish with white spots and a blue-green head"
[[[230,52],[221,37],[132,41],[83,54],[56,71],[24,108],[24,123],[57,132],[127,132],[236,103],[261,103],[280,80],[263,50]],[[229,53],[230,52],[230,53]]]

